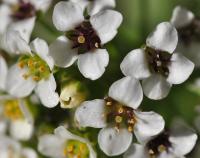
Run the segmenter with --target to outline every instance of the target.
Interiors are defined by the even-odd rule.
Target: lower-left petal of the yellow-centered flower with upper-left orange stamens
[[[23,75],[26,73],[27,69],[21,69],[17,64],[9,69],[6,82],[9,94],[15,97],[26,97],[33,91],[36,82],[31,77],[24,79]]]

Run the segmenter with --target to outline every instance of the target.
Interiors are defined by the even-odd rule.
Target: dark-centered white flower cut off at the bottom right
[[[145,145],[132,144],[124,158],[184,158],[194,148],[197,135],[183,124],[165,131]]]

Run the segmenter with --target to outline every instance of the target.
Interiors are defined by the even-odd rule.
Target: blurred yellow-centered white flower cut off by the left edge
[[[34,121],[24,100],[15,98],[0,99],[1,133],[8,128],[10,135],[17,140],[29,140],[34,130]]]

